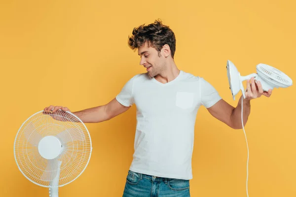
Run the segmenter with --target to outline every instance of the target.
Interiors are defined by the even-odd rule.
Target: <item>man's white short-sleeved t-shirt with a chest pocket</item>
[[[191,158],[196,114],[221,99],[202,77],[180,71],[168,83],[147,73],[135,75],[116,96],[136,104],[137,127],[130,170],[166,178],[192,179]]]

